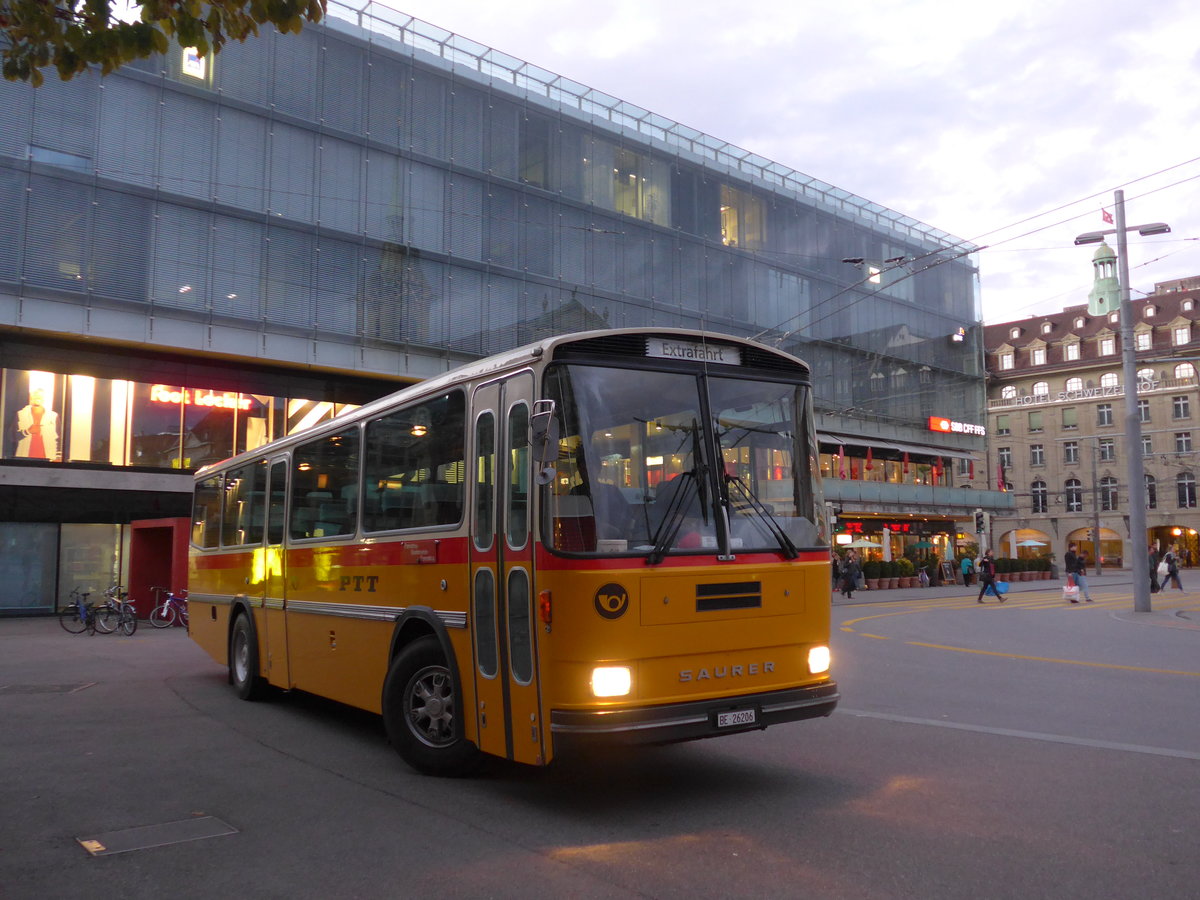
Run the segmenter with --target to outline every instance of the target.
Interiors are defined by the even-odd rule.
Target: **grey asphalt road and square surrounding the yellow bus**
[[[181,630],[0,620],[0,898],[1192,899],[1200,594],[1093,595],[881,592],[829,719],[463,780]]]

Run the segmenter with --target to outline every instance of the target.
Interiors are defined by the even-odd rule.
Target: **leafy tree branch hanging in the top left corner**
[[[245,41],[259,25],[298,32],[320,22],[325,0],[134,0],[126,20],[112,0],[0,0],[4,77],[41,85],[53,66],[70,80],[89,66],[108,74],[126,62],[166,53],[172,40],[204,56]],[[132,18],[132,14],[130,18]]]

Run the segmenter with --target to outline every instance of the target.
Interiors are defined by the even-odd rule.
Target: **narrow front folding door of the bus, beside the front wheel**
[[[545,760],[530,540],[533,374],[475,391],[470,629],[480,749]]]

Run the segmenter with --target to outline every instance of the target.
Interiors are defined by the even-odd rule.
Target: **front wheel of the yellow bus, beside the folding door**
[[[467,775],[481,754],[463,737],[462,698],[437,637],[404,647],[383,684],[383,722],[396,752],[426,775]]]

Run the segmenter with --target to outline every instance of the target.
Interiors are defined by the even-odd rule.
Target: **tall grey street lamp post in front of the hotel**
[[[1133,343],[1133,304],[1129,300],[1129,245],[1127,232],[1138,234],[1166,234],[1171,230],[1165,222],[1144,226],[1126,226],[1124,191],[1114,194],[1116,228],[1106,232],[1088,232],[1075,238],[1075,244],[1099,244],[1109,234],[1117,236],[1117,283],[1121,302],[1121,361],[1124,370],[1126,434],[1129,436],[1128,479],[1129,487],[1129,542],[1133,545],[1133,608],[1150,612],[1150,557],[1146,545],[1146,470],[1141,458],[1141,419],[1138,415],[1138,350]],[[1099,534],[1096,535],[1099,547]],[[1097,554],[1098,556],[1098,554]],[[1099,564],[1099,559],[1097,559]]]

